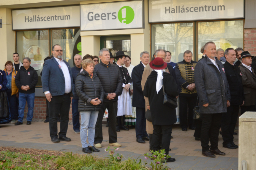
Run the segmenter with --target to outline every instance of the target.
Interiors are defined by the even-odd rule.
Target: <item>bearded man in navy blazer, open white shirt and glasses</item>
[[[73,77],[70,65],[62,59],[60,45],[52,48],[53,58],[43,66],[42,86],[49,102],[49,129],[52,142],[71,141],[66,137],[69,122],[71,96],[74,94]],[[57,118],[60,113],[60,132],[58,138]]]

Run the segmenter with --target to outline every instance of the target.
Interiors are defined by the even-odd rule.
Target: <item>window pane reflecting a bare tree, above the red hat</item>
[[[172,53],[174,63],[183,60],[186,50],[193,52],[193,22],[154,24],[152,25],[152,55],[157,49],[164,49]]]

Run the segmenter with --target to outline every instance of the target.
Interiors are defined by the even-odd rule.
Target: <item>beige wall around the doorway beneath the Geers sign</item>
[[[84,1],[80,4],[103,3],[111,0]],[[115,0],[120,1],[120,0]],[[110,35],[131,35],[131,62],[136,66],[140,63],[140,53],[142,51],[150,52],[150,24],[147,23],[147,2],[144,1],[145,29],[127,29],[127,30],[103,30],[103,31],[81,31],[82,55],[99,55],[100,36]]]

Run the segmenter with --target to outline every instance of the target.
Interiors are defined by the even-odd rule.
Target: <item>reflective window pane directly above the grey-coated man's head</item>
[[[243,20],[214,21],[198,23],[198,60],[200,49],[208,41],[213,41],[217,49],[243,47]]]

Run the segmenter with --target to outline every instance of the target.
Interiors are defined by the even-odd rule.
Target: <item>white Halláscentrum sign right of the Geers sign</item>
[[[244,18],[244,0],[149,0],[148,22]]]

